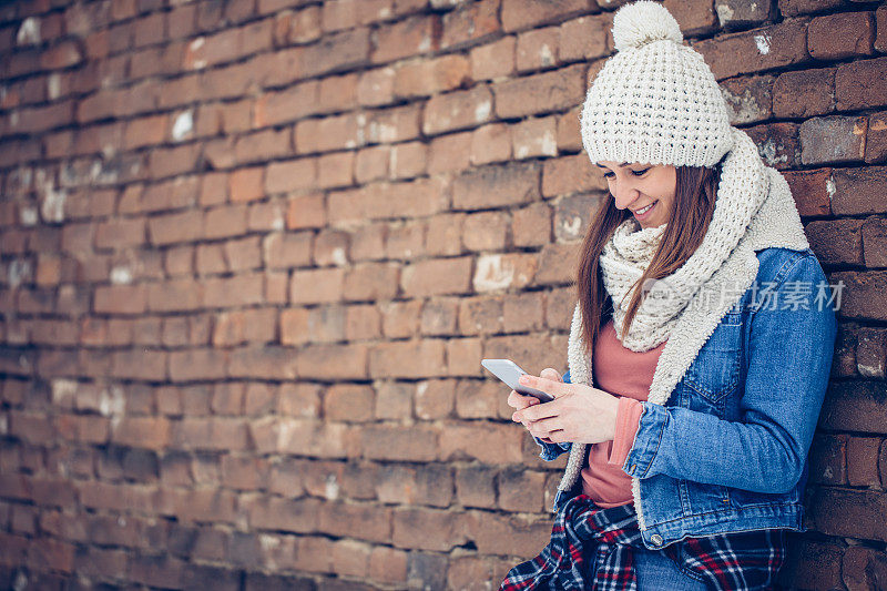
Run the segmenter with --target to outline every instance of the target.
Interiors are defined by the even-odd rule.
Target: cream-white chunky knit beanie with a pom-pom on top
[[[671,12],[639,0],[613,16],[616,54],[585,95],[582,144],[602,160],[713,166],[733,146],[726,103]]]

